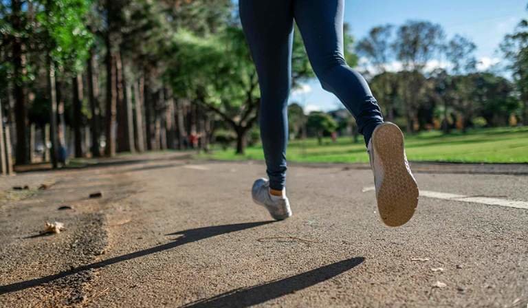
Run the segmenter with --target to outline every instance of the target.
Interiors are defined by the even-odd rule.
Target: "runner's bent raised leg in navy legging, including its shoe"
[[[395,124],[383,123],[366,81],[344,61],[343,9],[344,0],[297,0],[294,16],[322,86],[355,116],[369,146],[382,220],[390,226],[403,225],[415,213],[419,195],[405,155],[404,135]]]

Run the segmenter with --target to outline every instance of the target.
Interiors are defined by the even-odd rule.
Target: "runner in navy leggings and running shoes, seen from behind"
[[[259,122],[270,178],[254,182],[254,201],[265,206],[274,219],[292,216],[285,179],[295,21],[322,87],[341,100],[364,136],[382,220],[391,226],[409,221],[417,207],[418,186],[405,155],[404,136],[398,126],[383,121],[366,80],[344,61],[344,0],[239,0],[239,5],[259,74]]]

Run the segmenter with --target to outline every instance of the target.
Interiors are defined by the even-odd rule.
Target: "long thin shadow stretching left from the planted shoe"
[[[98,269],[98,268],[112,265],[115,263],[119,263],[122,261],[140,258],[141,256],[146,256],[148,254],[155,254],[157,252],[162,252],[164,250],[176,248],[180,245],[185,245],[187,243],[201,241],[202,239],[208,239],[210,237],[218,236],[221,234],[255,228],[255,227],[258,227],[259,225],[265,225],[267,223],[272,223],[272,222],[274,221],[260,221],[260,222],[254,222],[254,223],[235,223],[232,225],[214,225],[211,227],[196,228],[196,229],[190,229],[190,230],[175,232],[171,234],[166,234],[166,235],[178,235],[179,234],[181,236],[179,236],[174,241],[171,241],[170,243],[158,245],[153,248],[148,248],[146,250],[140,250],[137,252],[132,252],[130,254],[124,254],[122,256],[115,256],[107,260],[103,260],[103,261],[96,262],[96,263],[91,263],[88,265],[82,265],[72,270],[67,270],[67,271],[60,272],[58,274],[54,274],[50,276],[35,278],[29,281],[21,281],[19,283],[12,283],[10,285],[2,285],[0,286],[0,295],[10,293],[10,292],[20,291],[22,289],[28,289],[30,287],[36,287],[38,285],[43,285],[45,283],[50,283],[57,279],[70,276],[70,275],[74,275],[74,274],[77,274],[79,272],[83,272],[86,270]]]

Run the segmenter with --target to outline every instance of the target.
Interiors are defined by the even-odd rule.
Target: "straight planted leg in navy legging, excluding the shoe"
[[[283,190],[292,73],[292,0],[240,0],[240,17],[261,88],[259,124],[272,190]]]

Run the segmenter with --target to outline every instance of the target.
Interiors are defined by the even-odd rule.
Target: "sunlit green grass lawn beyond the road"
[[[470,130],[444,135],[429,131],[406,136],[407,156],[411,161],[428,162],[485,162],[528,163],[528,127]],[[199,155],[206,159],[244,160],[263,159],[261,146],[248,147],[244,155],[234,150],[215,149],[211,154]],[[325,139],[294,140],[289,143],[290,162],[369,162],[362,138],[353,143],[351,137],[340,137],[336,143]]]

